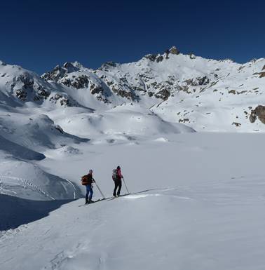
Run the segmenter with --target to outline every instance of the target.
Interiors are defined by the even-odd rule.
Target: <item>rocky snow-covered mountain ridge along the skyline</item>
[[[1,103],[100,112],[126,103],[196,130],[264,132],[261,121],[249,121],[252,109],[264,104],[264,69],[263,58],[240,65],[183,55],[175,47],[128,64],[106,62],[95,70],[66,62],[41,77],[1,62]]]

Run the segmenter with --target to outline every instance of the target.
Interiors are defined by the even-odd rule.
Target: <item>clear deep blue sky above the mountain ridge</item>
[[[265,57],[264,2],[1,1],[0,60],[41,74],[74,60],[93,68],[131,62],[175,45],[246,62]]]

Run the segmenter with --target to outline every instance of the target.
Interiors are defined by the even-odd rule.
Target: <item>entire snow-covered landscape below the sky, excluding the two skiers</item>
[[[264,77],[175,47],[41,76],[0,61],[0,269],[263,270]],[[89,169],[106,199],[84,205]]]

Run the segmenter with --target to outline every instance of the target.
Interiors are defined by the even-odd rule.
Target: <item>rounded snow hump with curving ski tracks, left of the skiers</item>
[[[79,189],[68,180],[46,173],[39,166],[6,158],[0,168],[0,194],[29,200],[74,199]]]

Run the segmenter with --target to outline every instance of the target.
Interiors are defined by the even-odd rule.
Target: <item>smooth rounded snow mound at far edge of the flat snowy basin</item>
[[[72,110],[70,109],[72,112]],[[156,114],[140,106],[123,105],[105,112],[78,113],[51,116],[67,133],[86,137],[90,135],[135,135],[194,132],[179,123],[163,121]]]

